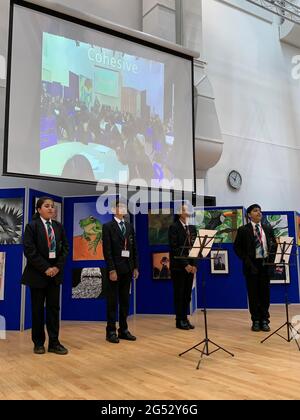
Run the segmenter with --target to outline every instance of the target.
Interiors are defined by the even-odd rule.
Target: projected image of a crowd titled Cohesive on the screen
[[[40,174],[171,181],[164,78],[163,63],[44,32]]]

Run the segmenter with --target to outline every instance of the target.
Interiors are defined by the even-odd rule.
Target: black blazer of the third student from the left
[[[197,237],[197,231],[195,226],[189,225],[191,245],[194,244]],[[187,233],[180,220],[177,220],[169,227],[169,245],[170,245],[170,268],[171,270],[184,270],[187,265],[196,266],[197,261],[189,258],[175,257],[188,256],[189,248],[182,248],[183,246],[189,246],[187,239]]]

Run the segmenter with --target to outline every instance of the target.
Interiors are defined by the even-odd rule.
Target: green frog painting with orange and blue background
[[[73,260],[103,260],[102,225],[110,214],[100,215],[96,201],[74,204]]]

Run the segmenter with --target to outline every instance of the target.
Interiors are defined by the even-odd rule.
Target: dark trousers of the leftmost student
[[[49,336],[49,346],[59,343],[59,297],[60,286],[50,283],[45,288],[31,287],[32,310],[32,341],[35,346],[43,346],[45,337],[45,302],[46,302],[46,327]]]

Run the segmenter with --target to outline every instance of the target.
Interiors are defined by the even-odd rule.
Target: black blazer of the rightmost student
[[[270,225],[262,224],[262,228],[265,232],[267,240],[267,248],[269,253],[268,262],[273,262],[277,248],[276,238]],[[251,223],[248,223],[245,226],[241,226],[238,229],[234,242],[234,251],[243,261],[244,274],[255,274],[256,269],[253,266],[253,263],[256,259],[256,246],[253,226]]]

